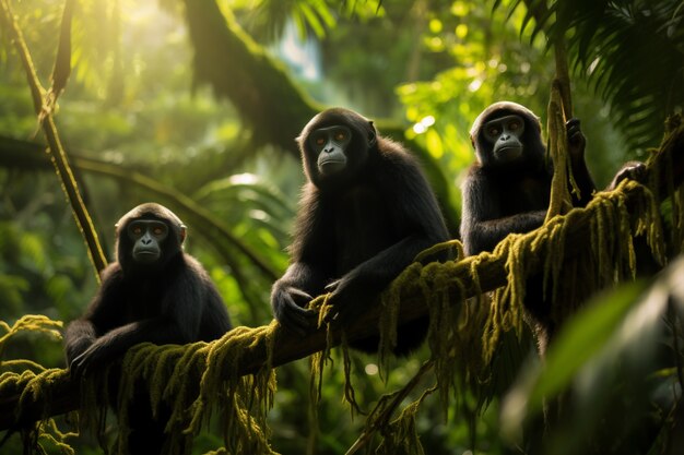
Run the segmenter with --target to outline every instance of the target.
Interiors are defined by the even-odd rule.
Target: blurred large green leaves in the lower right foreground
[[[506,398],[508,438],[519,440],[521,423],[565,393],[563,424],[549,439],[554,453],[585,453],[589,445],[598,453],[679,450],[667,429],[680,406],[683,265],[673,262],[648,290],[644,283],[625,286],[579,313],[550,350],[547,367],[531,368]],[[672,366],[670,356],[680,360]]]

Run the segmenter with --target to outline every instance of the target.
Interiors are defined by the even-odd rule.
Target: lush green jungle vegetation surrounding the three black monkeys
[[[142,345],[126,358],[128,371],[154,376],[153,396],[166,386],[181,396],[177,415],[190,409],[191,420],[178,421],[174,438],[192,440],[192,454],[549,453],[522,440],[523,428],[541,431],[549,403],[564,405],[546,440],[554,454],[684,446],[681,1],[0,0],[0,13],[3,411],[22,392],[16,409],[28,396],[78,408],[59,332],[95,292],[97,254],[89,259],[72,214],[87,209],[113,259],[116,220],[157,201],[188,225],[187,251],[245,326],[216,344]],[[325,333],[296,351],[309,359],[273,354],[297,347],[270,325],[269,295],[287,265],[304,181],[294,139],[309,118],[342,105],[409,145],[457,237],[473,119],[510,99],[545,125],[563,48],[571,113],[582,121],[598,185],[660,146],[667,153],[649,165],[648,189],[624,184],[539,236],[509,238],[496,256],[406,270],[384,295],[384,320],[400,318],[392,306],[404,299],[428,301],[438,314],[426,346],[406,359],[323,349]],[[39,115],[36,95],[44,96]],[[67,200],[45,153],[46,144],[56,148],[45,118],[55,122],[82,206]],[[641,262],[648,247],[664,265]],[[575,262],[564,268],[565,261]],[[520,319],[529,267],[562,284],[553,291],[569,318],[543,363]],[[576,310],[568,306],[577,286],[602,291]],[[495,289],[496,311],[484,294]],[[389,325],[382,330],[391,337]],[[279,367],[246,374],[267,360]],[[169,380],[177,361],[186,369]],[[198,384],[199,402],[182,396]],[[38,422],[24,439],[4,426],[0,451],[101,453],[93,427],[102,390],[86,392],[80,419],[90,429],[73,433],[74,412]],[[2,419],[11,421],[10,412]],[[110,441],[115,428],[109,414]]]

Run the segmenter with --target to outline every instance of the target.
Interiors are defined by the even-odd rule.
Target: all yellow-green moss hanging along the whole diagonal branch
[[[524,327],[524,283],[531,273],[543,273],[552,318],[561,323],[576,311],[576,302],[583,301],[588,295],[634,278],[638,265],[635,236],[646,239],[653,258],[661,263],[665,255],[680,253],[684,241],[684,187],[673,184],[675,170],[671,152],[682,148],[682,137],[684,125],[677,118],[661,146],[661,151],[668,152],[654,154],[649,159],[647,185],[626,180],[612,192],[595,194],[583,209],[554,216],[533,232],[509,236],[493,253],[467,259],[461,259],[461,253],[457,260],[444,264],[415,263],[408,267],[379,300],[384,310],[379,323],[380,364],[384,371],[388,371],[402,301],[412,304],[423,301],[428,308],[427,344],[432,356],[404,387],[379,400],[353,450],[367,445],[374,435],[380,435],[379,453],[422,453],[415,432],[415,415],[423,400],[435,392],[439,394],[445,411],[456,403],[460,411],[457,415],[474,421],[484,402],[480,398],[474,407],[465,404],[463,397],[468,394],[463,393],[463,387],[470,387],[475,396],[482,397],[497,381],[494,364],[503,357],[502,347],[508,344],[508,339],[502,342],[503,336],[519,334]],[[681,179],[679,173],[676,179]],[[658,201],[663,199],[669,199],[669,203],[661,216]],[[667,238],[661,219],[670,232]],[[578,236],[578,229],[587,229],[588,235]],[[569,241],[573,241],[573,248],[566,247]],[[460,243],[436,248],[453,247],[460,249]],[[502,268],[505,276],[500,275]],[[484,287],[492,288],[492,283],[505,285],[484,294]],[[326,296],[315,301],[321,309],[321,322],[328,311],[325,302]],[[13,327],[0,322],[8,333],[24,327],[56,334],[60,324],[44,316],[26,316]],[[273,453],[266,415],[275,391],[270,360],[274,328],[275,323],[258,328],[238,327],[209,344],[161,347],[146,344],[131,349],[120,367],[119,400],[114,405],[119,414],[120,435],[128,431],[122,410],[132,399],[135,381],[144,380],[153,408],[158,409],[162,400],[172,406],[167,432],[174,446],[184,446],[188,453],[192,438],[212,415],[219,415],[226,447],[213,453]],[[311,395],[316,397],[312,403],[320,398],[321,375],[325,366],[331,361],[333,335],[328,331],[328,348],[311,358]],[[0,352],[8,338],[7,335],[0,337]],[[354,407],[357,404],[350,380],[351,360],[344,336],[342,345],[347,379],[344,394]],[[246,357],[255,356],[256,347],[266,349],[266,354],[261,352],[268,358],[266,364],[255,374],[240,376],[245,366],[250,364]],[[55,384],[68,381],[64,370],[36,372],[33,370],[43,368],[27,360],[3,361],[0,367],[8,370],[0,373],[0,396],[19,396],[16,416],[36,403],[49,404],[50,397],[46,395],[51,390],[59,390]],[[20,369],[24,371],[14,372]],[[102,374],[99,381],[84,382],[81,395],[82,423],[91,421],[101,431],[107,409],[103,398],[108,391],[109,373]],[[424,383],[427,374],[434,375],[436,385],[400,410],[401,403]],[[47,417],[47,409],[48,406],[43,417]],[[24,434],[30,447],[40,447],[42,443],[49,442],[60,447],[63,444],[62,448],[69,453],[64,442],[69,435],[59,432],[54,422],[39,422]],[[117,446],[117,451],[120,450],[121,446]]]

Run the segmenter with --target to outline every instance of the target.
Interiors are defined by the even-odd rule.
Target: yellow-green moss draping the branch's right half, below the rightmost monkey
[[[683,133],[681,129],[681,122],[677,122],[676,128],[669,131],[669,137],[679,137]],[[556,133],[559,134],[559,127],[557,130]],[[661,149],[665,149],[665,146],[663,144]],[[400,391],[381,397],[347,455],[367,445],[376,433],[382,436],[377,453],[423,454],[415,432],[415,415],[428,394],[439,391],[440,400],[447,409],[451,403],[450,390],[455,391],[455,397],[458,398],[456,392],[459,386],[479,388],[481,394],[495,387],[495,379],[490,374],[493,371],[494,356],[500,347],[499,340],[504,334],[514,332],[520,336],[523,331],[524,285],[532,272],[543,272],[544,292],[551,296],[551,318],[555,324],[561,324],[590,295],[624,279],[634,279],[637,266],[635,237],[645,237],[656,261],[664,264],[665,244],[658,204],[660,199],[650,190],[658,188],[653,176],[662,176],[662,171],[658,169],[662,164],[649,163],[654,168],[651,169],[649,187],[625,180],[614,191],[595,194],[586,208],[571,209],[561,215],[568,207],[565,203],[569,200],[568,182],[573,191],[577,191],[571,175],[568,179],[567,160],[563,163],[566,164],[561,166],[564,172],[561,172],[561,178],[554,179],[553,184],[555,199],[558,200],[553,204],[555,216],[549,217],[540,229],[524,235],[509,235],[496,247],[493,254],[485,252],[468,261],[457,260],[426,266],[412,264],[382,294],[381,363],[386,362],[389,350],[397,340],[402,296],[412,296],[413,299],[416,295],[421,296],[431,315],[428,345],[432,357],[416,378],[425,374],[428,369],[434,369],[437,386],[424,392],[420,399],[404,407],[394,420],[391,420],[391,416],[415,388],[416,378]],[[672,179],[672,173],[669,178]],[[682,188],[676,191],[671,188],[668,195],[673,205],[674,229],[671,244],[674,250],[681,251],[684,241],[681,234],[684,230]],[[570,237],[576,226],[589,226],[589,236]],[[570,238],[574,243],[571,251],[568,251],[566,243]],[[477,270],[482,263],[499,258],[505,260],[506,285],[491,292],[491,300],[484,299]],[[464,266],[469,268],[468,275],[471,278],[470,294],[465,291],[464,282],[459,278]],[[465,295],[475,297],[464,301]],[[490,301],[491,304],[487,304]],[[479,406],[482,404],[483,400],[480,399]],[[468,411],[464,406],[460,409]],[[480,408],[474,410],[475,412],[465,412],[471,422],[473,446],[474,418]]]

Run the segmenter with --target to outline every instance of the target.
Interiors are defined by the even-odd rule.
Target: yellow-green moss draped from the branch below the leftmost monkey
[[[115,453],[126,453],[129,434],[127,408],[140,399],[141,385],[150,396],[153,412],[162,402],[170,406],[165,447],[184,447],[189,454],[192,440],[212,415],[221,417],[227,453],[275,453],[270,447],[266,417],[273,403],[275,374],[270,361],[257,373],[239,375],[239,366],[255,346],[264,344],[272,351],[274,323],[257,328],[236,327],[212,343],[185,346],[141,344],[125,356],[120,373],[116,367],[82,384],[82,424],[104,432],[106,394],[111,371],[120,374],[117,409],[119,431]],[[142,381],[141,381],[142,380]],[[223,448],[222,448],[223,450]],[[216,453],[221,453],[219,450]]]

